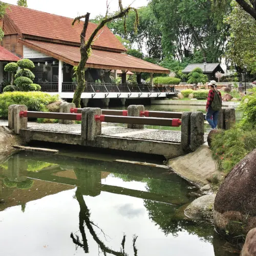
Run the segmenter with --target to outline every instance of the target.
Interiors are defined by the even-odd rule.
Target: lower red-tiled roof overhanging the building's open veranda
[[[60,59],[72,66],[77,66],[80,61],[79,47],[36,40],[20,41],[29,48],[45,53],[50,57]],[[130,70],[132,72],[169,73],[168,69],[125,53],[95,49],[92,50],[92,54],[87,61],[87,67],[95,69]]]

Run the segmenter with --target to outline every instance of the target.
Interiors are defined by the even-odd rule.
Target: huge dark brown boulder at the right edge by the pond
[[[244,157],[221,184],[214,204],[216,229],[231,237],[256,226],[256,149]]]

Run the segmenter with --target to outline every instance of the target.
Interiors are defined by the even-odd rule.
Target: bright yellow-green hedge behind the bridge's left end
[[[12,104],[26,105],[30,111],[47,111],[46,106],[58,100],[58,95],[43,92],[6,92],[0,94],[0,116],[8,117],[8,107]]]

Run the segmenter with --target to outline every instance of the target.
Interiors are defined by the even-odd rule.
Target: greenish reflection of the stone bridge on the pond
[[[182,187],[188,183],[174,174],[169,174],[166,172],[166,169],[160,169],[159,167],[155,166],[141,166],[122,162],[115,162],[113,164],[113,162],[109,161],[95,161],[92,159],[82,159],[80,161],[76,161],[74,165],[72,163],[73,166],[67,166],[65,165],[65,160],[63,159],[66,159],[67,161],[69,158],[64,155],[52,156],[50,160],[49,156],[44,154],[26,153],[26,155],[27,161],[24,161],[22,154],[9,159],[8,171],[6,171],[5,175],[6,177],[11,177],[12,180],[19,180],[20,177],[28,177],[29,179],[33,180],[63,184],[66,185],[67,188],[77,186],[83,195],[90,196],[98,196],[101,191],[106,191],[113,194],[126,195],[174,205],[185,204],[188,202],[188,198],[186,197],[188,191],[182,191]],[[44,167],[41,170],[38,170],[38,172],[27,172],[27,165],[33,165],[34,159],[41,160],[42,164],[45,164],[46,161],[48,163],[50,162],[52,167]],[[70,161],[74,161],[73,158],[70,158]],[[101,166],[104,166],[104,172],[116,173],[119,175],[134,175],[136,177],[141,177],[141,180],[144,177],[158,177],[160,180],[162,180],[162,183],[166,183],[170,189],[180,191],[182,196],[177,198],[177,195],[172,195],[170,191],[166,191],[165,194],[159,194],[152,189],[149,191],[142,191],[121,186],[102,184],[101,171],[99,170],[101,169]],[[72,169],[72,175],[63,169]]]

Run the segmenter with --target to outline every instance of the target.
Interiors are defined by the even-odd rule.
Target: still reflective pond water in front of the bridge
[[[238,255],[183,215],[197,190],[154,164],[19,153],[0,165],[1,255]]]

